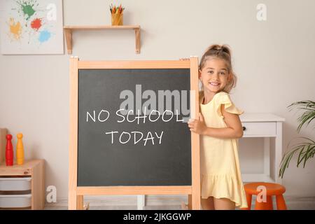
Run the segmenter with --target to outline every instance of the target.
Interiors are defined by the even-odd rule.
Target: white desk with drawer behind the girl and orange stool
[[[260,137],[264,139],[264,172],[262,174],[241,174],[243,181],[281,183],[278,176],[282,158],[282,123],[285,119],[271,113],[244,113],[239,118],[245,127],[243,138]],[[274,158],[270,157],[270,138],[275,138]],[[273,160],[272,173],[270,172],[271,160]]]

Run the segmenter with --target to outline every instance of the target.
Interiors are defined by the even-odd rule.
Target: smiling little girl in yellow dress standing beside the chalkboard
[[[200,134],[202,209],[246,208],[241,181],[238,139],[243,136],[237,109],[229,92],[237,78],[226,45],[211,45],[200,60],[200,119],[190,120],[191,132]]]

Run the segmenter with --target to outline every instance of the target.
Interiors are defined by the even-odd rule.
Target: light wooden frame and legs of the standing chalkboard
[[[70,58],[69,195],[68,209],[83,209],[84,195],[190,195],[188,207],[200,209],[200,138],[191,133],[191,186],[77,186],[78,174],[78,71],[79,69],[190,69],[190,90],[195,90],[191,108],[199,114],[198,58],[168,61],[80,61]],[[191,98],[190,98],[191,99]],[[195,105],[194,105],[195,104]]]

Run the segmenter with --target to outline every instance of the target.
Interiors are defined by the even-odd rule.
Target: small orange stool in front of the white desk
[[[246,183],[244,185],[246,200],[248,208],[244,210],[251,209],[251,197],[252,195],[258,195],[262,193],[262,189],[259,186],[266,188],[266,202],[258,201],[258,197],[255,202],[255,210],[273,210],[272,206],[272,196],[276,196],[276,209],[286,210],[286,202],[283,199],[283,193],[286,192],[286,188],[278,183],[265,183],[265,182],[255,182]]]

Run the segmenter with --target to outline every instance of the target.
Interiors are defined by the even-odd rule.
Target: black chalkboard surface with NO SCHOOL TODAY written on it
[[[191,186],[190,130],[178,121],[189,114],[175,116],[173,101],[167,122],[161,115],[138,124],[132,121],[137,113],[130,113],[129,122],[117,114],[123,90],[133,93],[136,112],[148,100],[141,95],[146,90],[155,92],[156,102],[159,90],[186,90],[181,103],[189,109],[190,69],[78,69],[77,186]]]

